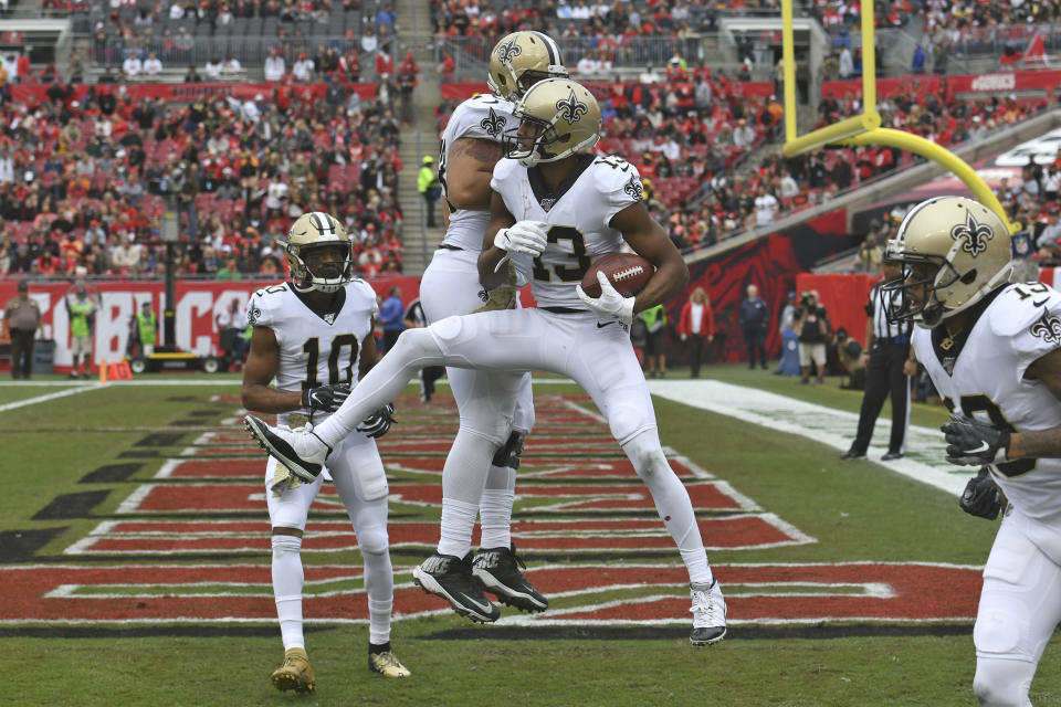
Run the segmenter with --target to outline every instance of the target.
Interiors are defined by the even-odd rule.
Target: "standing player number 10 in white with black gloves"
[[[243,405],[319,422],[339,407],[359,374],[379,358],[372,339],[376,293],[353,277],[350,240],[335,218],[300,217],[284,245],[291,279],[259,289],[248,305],[253,328],[243,368]],[[275,388],[270,383],[275,379]],[[409,671],[390,650],[393,570],[387,537],[387,477],[374,437],[386,434],[392,409],[368,416],[336,447],[328,472],[357,534],[365,561],[369,610],[369,667],[388,677]],[[265,468],[272,525],[273,593],[284,641],[284,663],[272,674],[277,689],[309,693],[316,679],[302,630],[302,536],[325,481],[303,483],[270,457]]]

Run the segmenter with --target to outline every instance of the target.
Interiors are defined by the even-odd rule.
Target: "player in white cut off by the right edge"
[[[952,422],[947,460],[980,466],[959,505],[1002,523],[984,567],[973,631],[981,705],[1030,705],[1061,621],[1061,293],[1008,282],[1010,233],[970,199],[906,214],[885,257],[904,266],[892,320],[913,319],[914,355]],[[1001,496],[999,495],[1001,494]]]

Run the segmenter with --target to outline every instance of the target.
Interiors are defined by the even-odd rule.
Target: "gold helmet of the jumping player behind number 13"
[[[543,78],[567,77],[564,56],[548,34],[513,32],[490,52],[490,89],[505,101],[516,102]]]

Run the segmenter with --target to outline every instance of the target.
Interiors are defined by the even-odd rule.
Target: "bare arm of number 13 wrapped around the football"
[[[633,312],[643,312],[666,302],[689,283],[689,267],[666,231],[649,214],[642,202],[631,204],[611,219],[611,228],[622,233],[633,252],[655,266],[633,302]]]

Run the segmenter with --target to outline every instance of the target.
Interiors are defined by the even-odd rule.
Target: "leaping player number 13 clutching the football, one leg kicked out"
[[[689,570],[694,645],[721,641],[726,604],[704,551],[689,493],[674,474],[656,430],[652,398],[628,333],[634,313],[665,302],[689,281],[689,270],[666,232],[641,201],[637,169],[618,157],[584,154],[600,139],[600,107],[567,78],[535,84],[516,104],[518,134],[497,163],[491,187],[491,223],[479,256],[480,277],[500,284],[513,254],[533,257],[538,307],[448,317],[402,334],[336,413],[312,432],[245,423],[270,454],[313,478],[329,450],[359,415],[391,400],[420,366],[442,362],[491,370],[548,370],[579,383],[608,419],[612,435],[652,493],[660,517]],[[623,297],[603,273],[601,294],[579,285],[590,263],[623,243],[655,273],[635,297]],[[413,577],[421,582],[430,567]],[[484,613],[487,610],[484,608]]]

